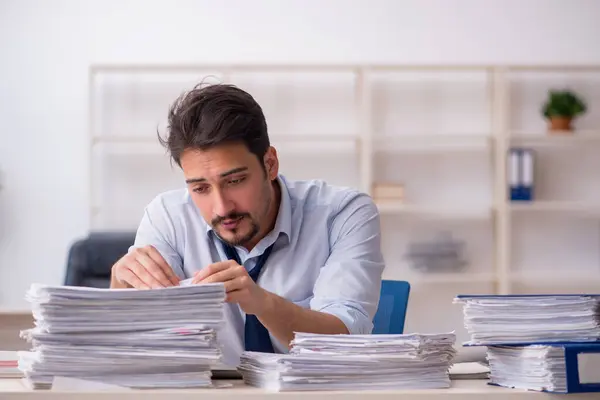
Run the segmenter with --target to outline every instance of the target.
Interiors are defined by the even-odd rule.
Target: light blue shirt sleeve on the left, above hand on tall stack
[[[177,232],[164,200],[156,197],[144,209],[144,215],[137,229],[134,244],[129,250],[153,246],[165,259],[173,272],[185,279],[183,260],[177,251]]]

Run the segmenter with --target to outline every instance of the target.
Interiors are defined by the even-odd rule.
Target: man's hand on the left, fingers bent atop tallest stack
[[[111,287],[157,289],[179,285],[179,277],[152,246],[133,249],[112,267]]]

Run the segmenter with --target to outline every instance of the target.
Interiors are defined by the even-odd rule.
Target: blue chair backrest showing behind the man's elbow
[[[406,281],[381,281],[381,295],[375,318],[373,333],[404,333],[404,321],[408,308],[410,284]]]

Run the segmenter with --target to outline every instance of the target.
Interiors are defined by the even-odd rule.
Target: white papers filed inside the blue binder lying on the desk
[[[561,346],[492,346],[490,383],[518,389],[566,392],[565,351]]]

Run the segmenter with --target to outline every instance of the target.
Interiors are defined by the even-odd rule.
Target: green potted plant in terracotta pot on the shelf
[[[587,111],[585,102],[570,90],[550,90],[542,113],[550,122],[550,131],[570,132],[575,117]]]

